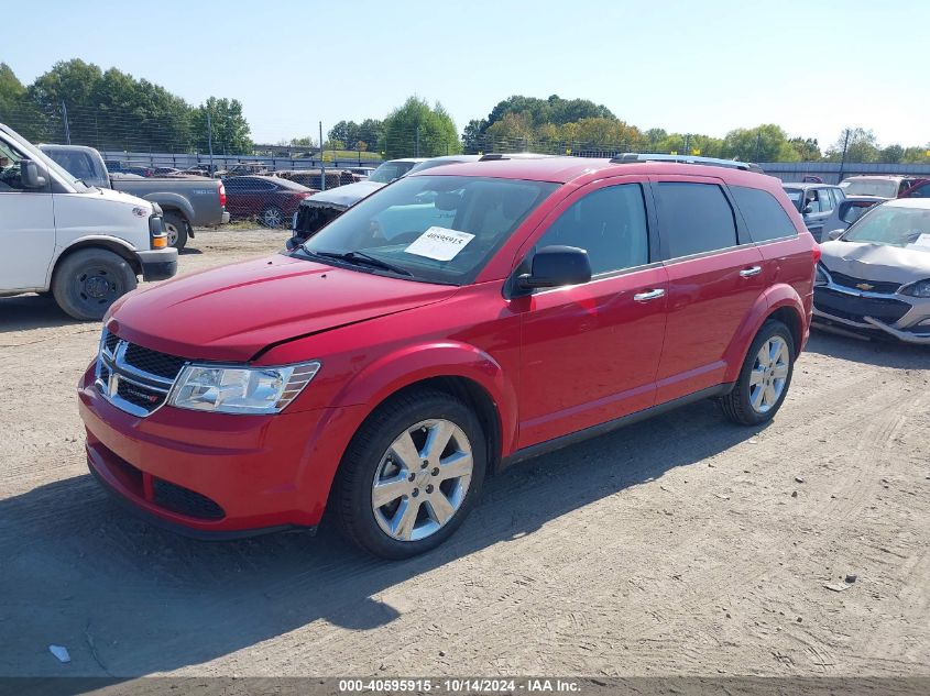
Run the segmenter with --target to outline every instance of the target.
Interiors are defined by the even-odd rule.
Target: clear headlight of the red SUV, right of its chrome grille
[[[318,362],[284,367],[187,365],[168,404],[220,413],[278,413],[319,371]]]

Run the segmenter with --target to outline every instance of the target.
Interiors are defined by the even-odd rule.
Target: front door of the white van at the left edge
[[[26,156],[0,140],[0,290],[45,286],[55,253],[55,209],[51,181],[26,189],[20,162]]]

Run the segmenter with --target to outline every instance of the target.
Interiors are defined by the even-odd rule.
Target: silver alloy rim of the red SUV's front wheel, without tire
[[[435,534],[464,501],[473,465],[471,443],[452,421],[412,426],[387,448],[375,471],[371,504],[378,526],[397,541]]]

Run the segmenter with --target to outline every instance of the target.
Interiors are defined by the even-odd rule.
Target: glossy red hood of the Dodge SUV
[[[438,302],[457,289],[276,255],[131,292],[107,328],[172,355],[244,362],[270,344]]]

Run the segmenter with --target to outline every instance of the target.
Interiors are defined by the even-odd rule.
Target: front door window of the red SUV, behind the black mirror
[[[594,275],[649,263],[643,187],[609,186],[577,200],[546,230],[536,248],[556,244],[587,251]]]

